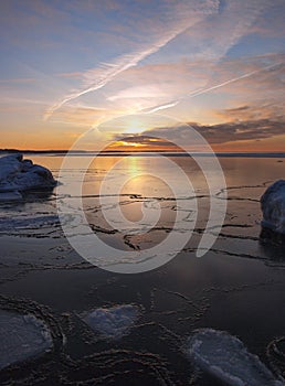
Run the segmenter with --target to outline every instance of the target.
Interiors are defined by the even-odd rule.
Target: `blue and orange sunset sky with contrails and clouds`
[[[285,151],[284,0],[0,2],[0,148]],[[127,138],[127,139],[126,139]],[[126,140],[125,140],[126,139]]]

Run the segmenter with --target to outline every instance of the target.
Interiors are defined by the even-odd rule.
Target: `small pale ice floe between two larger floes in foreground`
[[[108,337],[125,335],[139,317],[139,307],[134,304],[99,308],[83,318],[92,330]]]

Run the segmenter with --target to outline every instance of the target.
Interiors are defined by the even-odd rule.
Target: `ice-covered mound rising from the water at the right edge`
[[[285,180],[274,182],[261,197],[262,225],[285,235]]]

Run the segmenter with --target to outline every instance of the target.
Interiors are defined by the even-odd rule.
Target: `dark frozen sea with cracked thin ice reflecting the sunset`
[[[53,192],[30,192],[19,202],[0,203],[0,322],[4,320],[0,335],[7,346],[11,346],[12,331],[6,328],[9,314],[14,331],[21,326],[21,336],[12,341],[14,361],[10,354],[6,358],[0,347],[0,362],[10,364],[0,369],[1,385],[224,385],[208,371],[218,361],[215,356],[211,364],[211,352],[217,350],[212,335],[203,343],[209,368],[199,367],[189,355],[188,342],[203,329],[232,336],[222,346],[229,357],[239,340],[242,350],[233,357],[242,360],[243,352],[257,355],[274,378],[285,376],[285,246],[260,239],[260,197],[274,181],[285,179],[284,156],[220,157],[226,185],[217,182],[214,197],[189,157],[168,154],[171,163],[166,165],[150,154],[96,159],[74,154],[63,170],[63,156],[27,158],[60,176],[61,185]],[[89,167],[78,194],[86,160]],[[112,168],[115,173],[109,172]],[[177,170],[188,176],[192,190],[180,182]],[[120,181],[125,181],[122,186]],[[211,249],[197,257],[211,199],[225,202],[226,215]],[[66,224],[75,224],[74,210],[82,204],[92,232],[117,250],[116,265],[128,253],[128,262],[136,267],[136,254],[159,245],[169,234],[175,235],[173,243],[189,229],[192,235],[176,256],[155,269],[114,272],[108,270],[114,262],[108,256],[104,266],[102,250],[93,250],[93,265],[70,245],[56,200]],[[148,222],[141,223],[144,214],[155,223],[150,229]],[[212,226],[209,232],[214,236],[217,229]],[[75,226],[75,236],[76,232]],[[49,344],[29,343],[38,324],[31,328],[25,320],[44,325]],[[28,357],[19,354],[21,344],[25,352],[28,345]],[[42,346],[49,350],[41,352]],[[244,367],[251,372],[250,365]],[[239,372],[243,372],[240,362],[238,375],[234,368],[226,379]],[[241,378],[250,379],[247,373]],[[263,380],[244,385],[258,382],[263,386]]]

